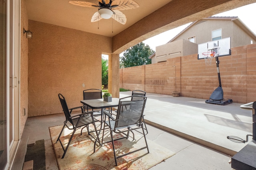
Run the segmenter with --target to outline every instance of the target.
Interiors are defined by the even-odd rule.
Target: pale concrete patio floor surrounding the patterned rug
[[[120,98],[130,95],[131,92],[120,92]],[[252,134],[252,111],[240,109],[242,104],[237,103],[220,106],[196,98],[150,93],[146,96],[147,139],[176,153],[150,170],[232,169],[229,155],[247,143],[234,143],[226,137],[245,139]],[[58,170],[48,127],[63,125],[64,120],[61,113],[29,117],[26,121],[22,138],[28,137],[28,144],[44,139],[48,170]]]

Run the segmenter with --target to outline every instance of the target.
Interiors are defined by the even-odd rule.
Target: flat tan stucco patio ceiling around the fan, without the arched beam
[[[112,18],[92,23],[92,15],[98,11],[98,8],[76,6],[68,1],[70,0],[26,0],[28,19],[113,37],[171,0],[134,0],[140,7],[122,10],[127,18],[125,25],[112,20]],[[98,4],[98,0],[80,1]]]

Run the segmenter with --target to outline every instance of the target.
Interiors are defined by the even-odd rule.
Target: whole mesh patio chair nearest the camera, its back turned
[[[128,100],[128,98],[136,98],[136,100]],[[111,135],[111,139],[112,139],[112,146],[113,146],[116,166],[117,166],[116,159],[120,158],[122,156],[126,156],[128,154],[137,152],[142,149],[147,149],[148,153],[149,153],[148,144],[146,141],[146,136],[145,136],[145,132],[144,132],[144,128],[143,128],[144,123],[142,123],[142,117],[143,117],[146,100],[147,100],[147,97],[145,97],[145,96],[128,96],[125,98],[121,98],[119,100],[116,119],[110,113],[108,113],[108,111],[104,111],[106,116],[105,116],[104,129],[103,129],[103,134],[102,134],[102,144],[103,144],[103,139],[104,139],[105,125],[107,125],[108,127],[110,127],[110,135]],[[108,116],[108,121],[106,121],[107,116]],[[128,152],[123,155],[116,156],[114,141],[119,140],[119,139],[124,139],[124,138],[128,139],[129,132],[131,132],[133,134],[133,140],[134,140],[133,130],[140,129],[140,128],[142,129],[146,146],[142,147],[140,149],[134,150],[132,152]],[[124,137],[114,140],[113,132],[114,133],[122,133],[124,135]],[[127,132],[127,134],[125,132]],[[108,142],[110,142],[110,141],[108,141]],[[108,143],[108,142],[104,142],[104,143]]]

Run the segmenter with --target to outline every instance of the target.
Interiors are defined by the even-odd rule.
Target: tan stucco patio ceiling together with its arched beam
[[[139,8],[122,10],[125,25],[112,18],[91,22],[97,8],[76,6],[69,0],[24,0],[29,20],[112,37],[112,53],[120,54],[133,45],[164,31],[244,6],[256,0],[134,0]],[[98,0],[81,0],[98,3]],[[239,14],[238,14],[239,16]]]

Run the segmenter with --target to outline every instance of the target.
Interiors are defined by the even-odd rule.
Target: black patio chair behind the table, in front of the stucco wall
[[[102,99],[102,90],[100,89],[87,89],[83,91],[84,100],[90,100],[90,99]],[[84,111],[87,109],[92,109],[86,105],[84,105]],[[93,109],[92,109],[93,110]],[[101,110],[100,110],[101,111]],[[99,111],[94,113],[94,116],[100,115]]]

